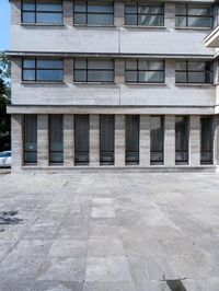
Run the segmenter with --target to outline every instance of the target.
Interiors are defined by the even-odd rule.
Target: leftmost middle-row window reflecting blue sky
[[[60,59],[23,59],[22,80],[61,82],[64,81],[64,61]]]

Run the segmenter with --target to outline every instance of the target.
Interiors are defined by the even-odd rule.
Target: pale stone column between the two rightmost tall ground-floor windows
[[[191,116],[191,150],[189,160],[192,166],[200,165],[200,116]]]

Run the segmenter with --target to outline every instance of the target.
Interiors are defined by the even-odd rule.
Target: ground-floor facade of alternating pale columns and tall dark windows
[[[217,116],[12,115],[12,171],[216,168]]]

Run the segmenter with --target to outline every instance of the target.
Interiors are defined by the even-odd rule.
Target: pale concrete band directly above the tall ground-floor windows
[[[219,112],[219,110],[218,110]],[[217,112],[217,113],[218,113]],[[214,115],[215,106],[74,106],[74,105],[10,105],[8,114],[162,114]]]

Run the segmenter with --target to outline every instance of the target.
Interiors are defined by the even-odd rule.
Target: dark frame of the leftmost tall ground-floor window
[[[37,165],[37,139],[38,139],[38,136],[37,136],[37,128],[38,128],[38,116],[36,114],[34,114],[33,116],[35,116],[36,118],[36,150],[35,151],[30,151],[30,150],[26,150],[26,118],[30,117],[31,115],[30,114],[26,114],[23,116],[23,135],[22,135],[22,142],[23,142],[23,165]],[[26,159],[25,159],[25,155],[26,153],[28,152],[32,152],[32,153],[35,153],[36,154],[36,162],[28,162]]]

